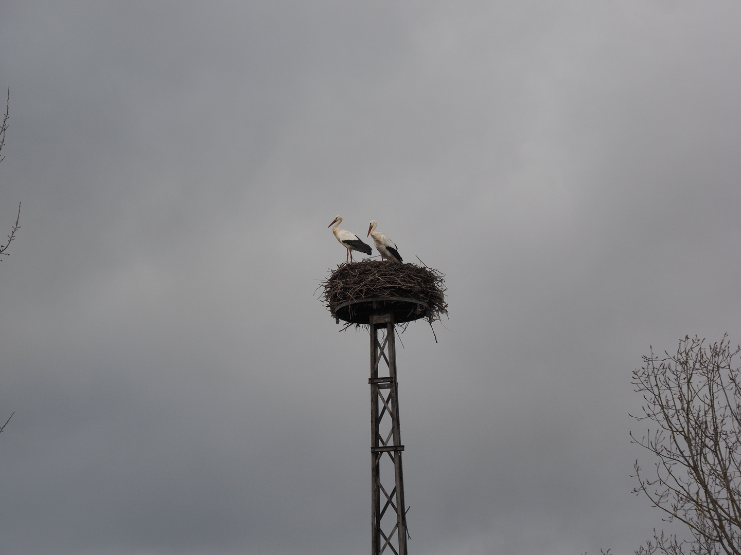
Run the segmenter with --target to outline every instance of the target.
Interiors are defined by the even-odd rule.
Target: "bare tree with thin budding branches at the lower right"
[[[741,376],[728,337],[707,344],[679,341],[677,354],[651,354],[633,372],[651,428],[634,443],[653,455],[645,474],[635,462],[638,486],[667,522],[687,525],[691,540],[663,532],[637,555],[741,554]]]

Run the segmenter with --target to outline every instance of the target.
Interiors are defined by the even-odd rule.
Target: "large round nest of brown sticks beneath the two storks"
[[[391,260],[340,264],[322,282],[319,300],[333,317],[347,323],[370,323],[371,314],[393,314],[395,323],[448,314],[445,275],[428,266]]]

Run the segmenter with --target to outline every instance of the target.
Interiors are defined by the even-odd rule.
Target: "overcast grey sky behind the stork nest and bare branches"
[[[740,26],[0,1],[0,554],[368,553],[367,332],[315,292],[337,214],[447,275],[439,343],[398,353],[410,553],[632,553],[662,522],[631,370],[741,342]]]

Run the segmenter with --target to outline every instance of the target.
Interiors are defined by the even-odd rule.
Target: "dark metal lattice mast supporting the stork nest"
[[[396,332],[393,314],[373,314],[370,320],[371,379],[368,383],[371,384],[371,555],[381,555],[386,548],[390,548],[395,555],[407,555],[407,517],[402,472],[404,445],[401,444],[399,430]],[[388,455],[391,464],[388,464],[385,455]],[[384,465],[382,461],[385,462]],[[398,551],[392,544],[394,534]]]

